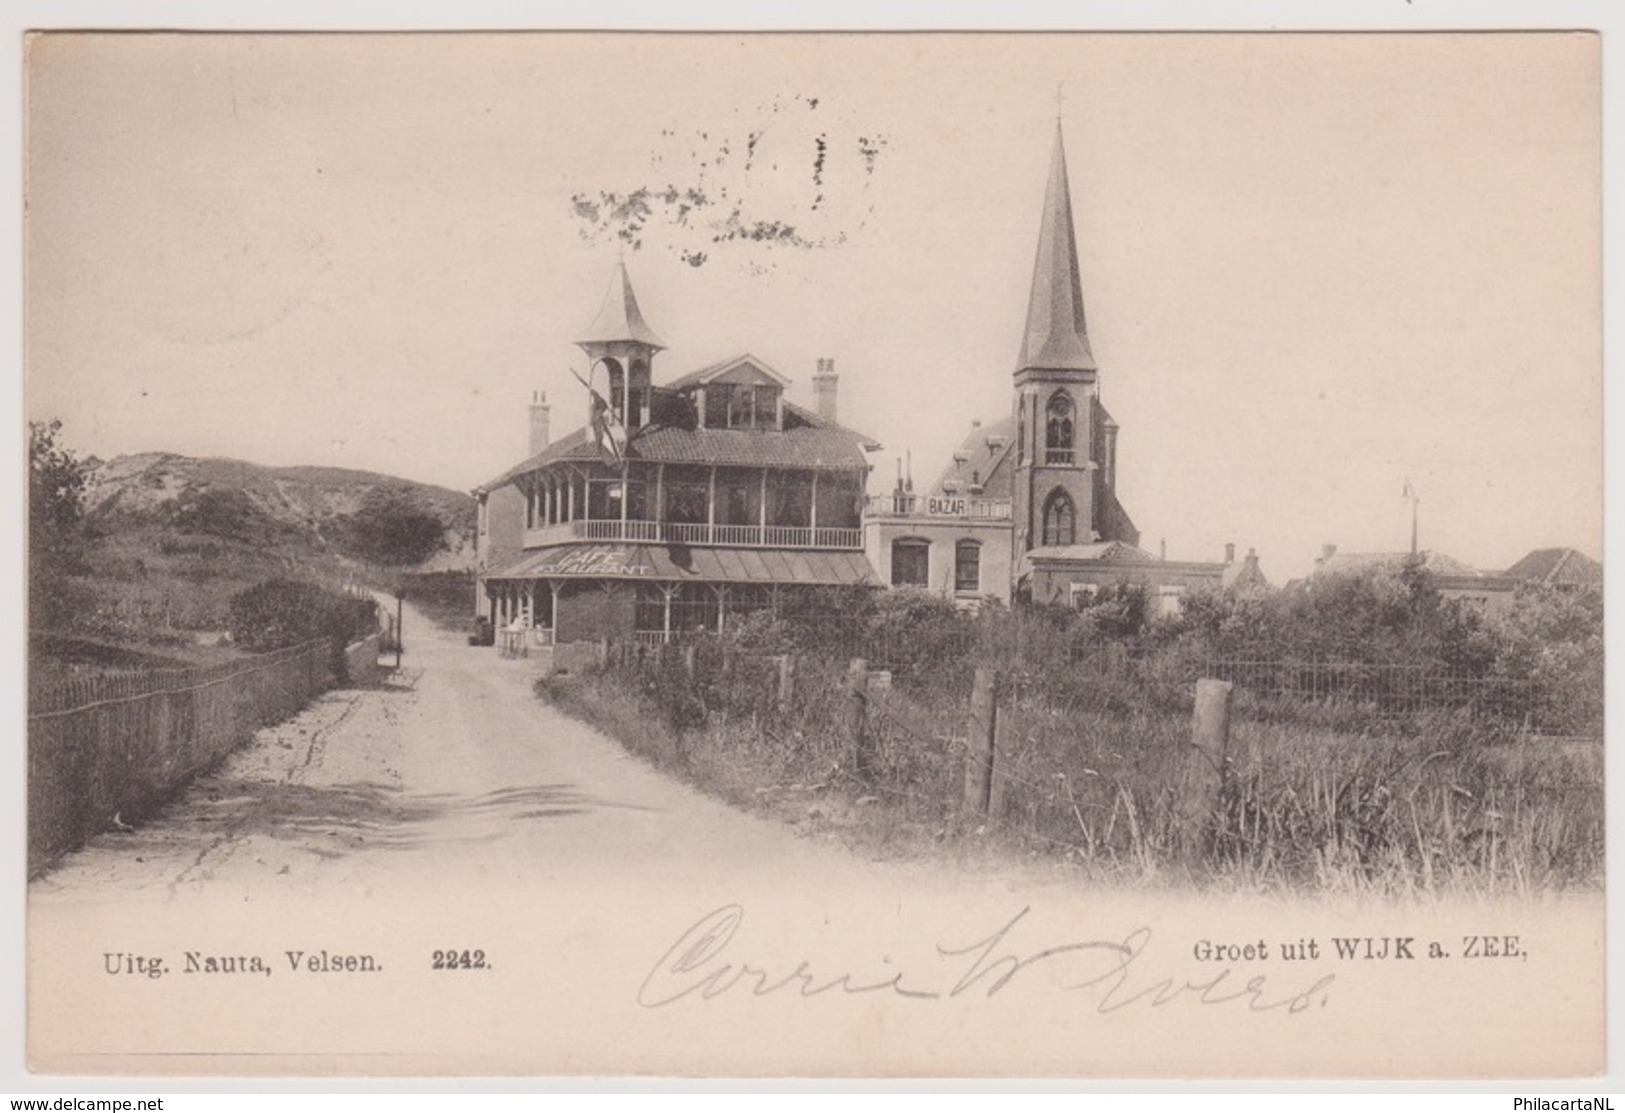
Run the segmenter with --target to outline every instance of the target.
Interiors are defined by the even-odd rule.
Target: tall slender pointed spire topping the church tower
[[[1066,148],[1061,145],[1060,120],[1055,122],[1050,184],[1043,190],[1038,258],[1032,266],[1027,331],[1017,364],[1017,369],[1022,367],[1095,370],[1084,325],[1084,289],[1077,278],[1072,195],[1066,182]]]

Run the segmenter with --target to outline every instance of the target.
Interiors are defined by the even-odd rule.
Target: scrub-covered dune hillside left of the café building
[[[266,468],[145,453],[94,461],[65,606],[31,622],[63,639],[195,655],[237,591],[278,577],[388,587],[473,567],[474,505],[458,491],[343,468]],[[470,588],[471,593],[473,588]],[[80,647],[83,648],[83,645]]]

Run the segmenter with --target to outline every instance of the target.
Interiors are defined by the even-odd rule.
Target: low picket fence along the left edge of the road
[[[375,655],[375,650],[374,650]],[[335,681],[330,639],[223,665],[39,678],[28,705],[28,864],[39,873]]]

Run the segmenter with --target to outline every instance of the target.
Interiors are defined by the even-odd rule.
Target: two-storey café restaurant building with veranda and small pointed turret
[[[577,343],[587,424],[551,440],[538,396],[531,455],[474,491],[481,616],[533,647],[668,642],[811,588],[879,587],[863,554],[879,445],[835,421],[834,361],[814,408],[751,354],[655,387],[665,344],[624,265]]]

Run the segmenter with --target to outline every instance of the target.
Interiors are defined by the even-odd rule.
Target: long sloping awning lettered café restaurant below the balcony
[[[492,580],[694,580],[879,587],[861,552],[712,549],[686,544],[557,544],[484,575]]]

